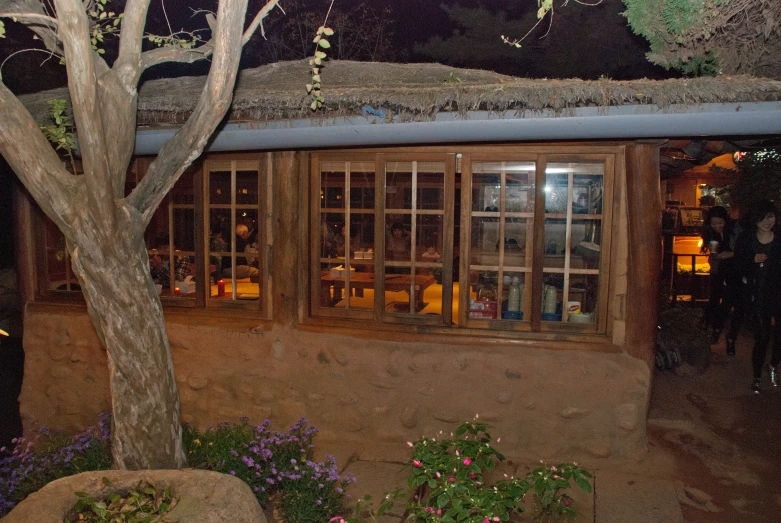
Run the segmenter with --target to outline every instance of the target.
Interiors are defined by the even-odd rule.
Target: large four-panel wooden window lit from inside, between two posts
[[[313,316],[604,333],[614,155],[490,149],[315,154]]]

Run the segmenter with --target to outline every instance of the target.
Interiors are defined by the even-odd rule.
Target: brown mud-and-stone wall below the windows
[[[109,409],[108,376],[86,313],[30,305],[26,321],[26,431],[95,423]],[[305,416],[321,429],[320,441],[404,452],[403,442],[479,414],[511,456],[636,458],[646,449],[649,369],[625,354],[198,323],[177,317],[168,331],[182,417],[199,427],[247,416],[284,428]]]

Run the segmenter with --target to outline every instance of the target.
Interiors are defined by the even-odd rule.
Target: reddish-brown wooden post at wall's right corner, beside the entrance
[[[626,149],[629,271],[626,293],[627,353],[653,367],[661,266],[662,204],[659,142]]]

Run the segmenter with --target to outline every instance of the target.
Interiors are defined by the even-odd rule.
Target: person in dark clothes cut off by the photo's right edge
[[[776,234],[777,211],[773,202],[758,202],[749,216],[753,227],[738,238],[735,261],[745,282],[746,313],[754,327],[751,390],[759,394],[771,334],[773,353],[768,371],[770,382],[774,387],[778,386],[776,367],[781,363],[781,236]],[[774,319],[775,329],[771,325]]]

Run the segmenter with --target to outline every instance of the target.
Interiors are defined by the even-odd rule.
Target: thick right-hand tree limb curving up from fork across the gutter
[[[242,48],[237,35],[242,33],[246,11],[247,0],[220,2],[212,38],[212,65],[201,97],[187,122],[163,145],[144,179],[128,197],[130,205],[141,214],[144,226],[179,176],[200,156],[230,107]]]

